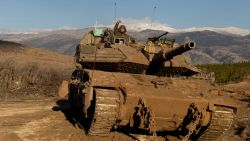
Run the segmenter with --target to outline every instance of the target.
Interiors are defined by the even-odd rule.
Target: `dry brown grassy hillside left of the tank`
[[[73,57],[0,41],[0,99],[54,97],[61,81],[69,77],[72,69]]]

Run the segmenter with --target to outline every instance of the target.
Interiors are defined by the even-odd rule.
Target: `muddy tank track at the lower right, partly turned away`
[[[227,131],[234,120],[233,109],[217,107],[212,113],[212,121],[198,141],[215,141]]]

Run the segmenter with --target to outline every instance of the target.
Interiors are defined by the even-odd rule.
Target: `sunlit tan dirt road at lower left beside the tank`
[[[109,137],[87,137],[67,109],[66,101],[59,105],[55,100],[2,101],[0,141],[133,141],[119,132]]]

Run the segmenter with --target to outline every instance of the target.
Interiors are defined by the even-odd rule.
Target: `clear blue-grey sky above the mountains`
[[[148,17],[173,28],[250,29],[250,0],[0,0],[0,29],[111,24],[115,3],[121,18]]]

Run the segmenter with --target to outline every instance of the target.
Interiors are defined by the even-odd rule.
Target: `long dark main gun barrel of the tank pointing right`
[[[171,60],[174,56],[181,55],[184,52],[187,52],[191,49],[195,48],[195,42],[189,41],[188,43],[185,43],[179,47],[176,47],[166,53],[164,53],[164,61]]]

